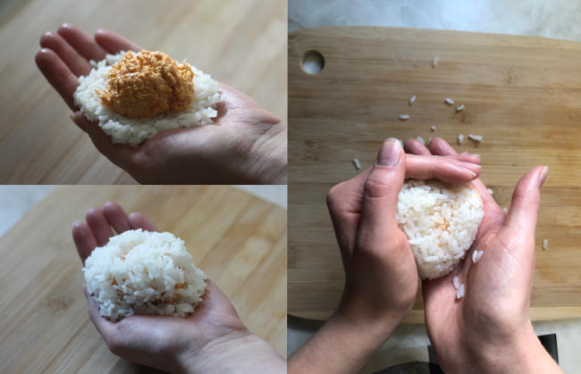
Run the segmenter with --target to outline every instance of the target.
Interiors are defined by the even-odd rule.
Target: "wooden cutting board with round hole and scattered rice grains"
[[[300,66],[311,50],[324,56],[316,75]],[[466,109],[456,113],[446,97]],[[527,170],[550,166],[531,317],[581,316],[580,44],[424,29],[299,30],[289,36],[289,124],[290,314],[325,319],[340,300],[343,270],[325,195],[358,173],[352,160],[372,165],[386,137],[438,136],[482,156],[482,180],[501,206]],[[484,141],[456,145],[459,133]],[[408,321],[422,322],[422,309],[418,294]]]

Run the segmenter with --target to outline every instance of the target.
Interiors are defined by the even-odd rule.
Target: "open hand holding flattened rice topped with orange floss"
[[[112,31],[95,38],[63,24],[40,38],[38,68],[74,112],[72,120],[98,151],[141,183],[286,183],[286,123],[232,87],[221,84],[214,125],[164,131],[137,148],[114,145],[73,103],[78,77],[91,70],[89,60],[121,50],[140,51]]]

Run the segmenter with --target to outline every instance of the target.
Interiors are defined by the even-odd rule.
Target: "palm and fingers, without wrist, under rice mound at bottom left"
[[[84,263],[97,246],[105,245],[114,232],[128,229],[155,231],[154,225],[140,213],[123,212],[114,202],[103,209],[87,212],[87,222],[78,222],[72,228],[72,237],[80,259]],[[183,370],[183,355],[201,354],[208,343],[225,335],[249,334],[223,292],[207,280],[206,294],[196,311],[186,318],[133,315],[117,322],[100,315],[90,295],[88,313],[109,349],[131,362],[161,370]]]

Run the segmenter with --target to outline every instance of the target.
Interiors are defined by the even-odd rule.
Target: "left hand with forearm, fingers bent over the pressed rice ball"
[[[478,162],[472,154],[442,159],[406,155],[396,139],[388,139],[371,170],[331,189],[327,204],[341,249],[345,289],[337,312],[290,359],[290,368],[361,369],[416,299],[417,265],[396,219],[404,179],[466,183],[479,173]]]

